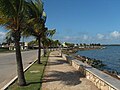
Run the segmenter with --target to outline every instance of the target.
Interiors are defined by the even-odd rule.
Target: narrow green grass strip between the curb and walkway
[[[42,64],[34,63],[26,72],[25,78],[27,86],[20,87],[16,81],[7,90],[40,90],[44,69],[47,64],[49,53],[46,57],[41,57]]]

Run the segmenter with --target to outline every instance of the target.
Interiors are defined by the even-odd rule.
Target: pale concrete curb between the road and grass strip
[[[37,59],[35,61],[33,61],[30,65],[28,65],[25,69],[24,72],[26,72],[35,62],[37,61]],[[15,76],[9,83],[7,83],[3,88],[1,88],[0,90],[6,90],[11,84],[13,84],[16,80],[17,80],[18,76]]]

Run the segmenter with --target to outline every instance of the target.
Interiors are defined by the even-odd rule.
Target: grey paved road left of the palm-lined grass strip
[[[42,52],[43,53],[43,52]],[[22,52],[23,67],[37,59],[37,50]],[[0,53],[0,88],[17,75],[15,53]]]

